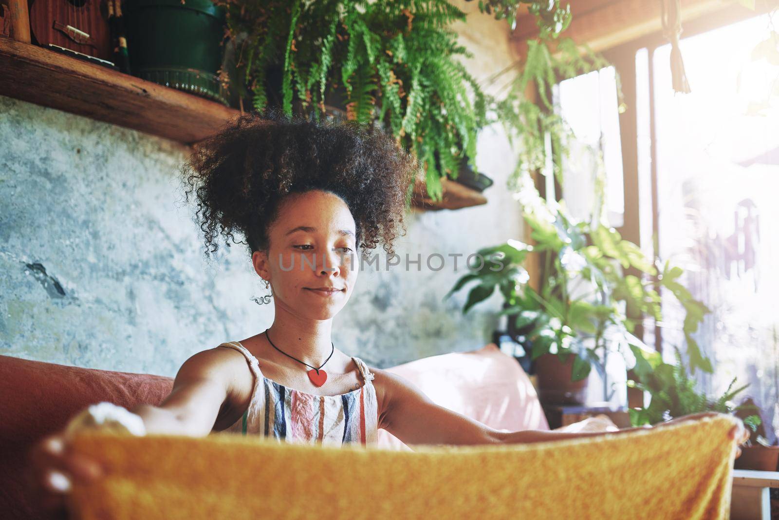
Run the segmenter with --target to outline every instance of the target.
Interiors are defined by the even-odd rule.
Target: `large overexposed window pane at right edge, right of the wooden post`
[[[685,269],[686,286],[712,310],[696,340],[715,373],[699,380],[714,394],[733,377],[749,383],[738,399],[751,395],[775,430],[779,95],[769,87],[777,85],[779,67],[753,60],[754,49],[770,37],[769,25],[769,16],[758,16],[683,39],[690,94],[668,88],[670,45],[639,51],[636,73],[653,83],[654,110],[644,104],[642,119],[654,124],[657,253]],[[651,191],[639,196],[642,206],[651,206]],[[681,347],[684,315],[672,297],[662,296],[662,344]],[[671,348],[663,356],[673,359]]]

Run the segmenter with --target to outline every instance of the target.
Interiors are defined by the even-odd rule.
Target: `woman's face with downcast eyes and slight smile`
[[[333,193],[317,189],[282,200],[268,230],[269,251],[252,254],[277,310],[329,320],[346,305],[358,274],[355,231],[349,207]]]

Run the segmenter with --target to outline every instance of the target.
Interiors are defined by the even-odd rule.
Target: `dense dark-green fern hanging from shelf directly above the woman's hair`
[[[476,154],[488,101],[467,73],[451,25],[465,14],[446,0],[215,0],[243,43],[241,95],[261,110],[321,116],[342,97],[347,117],[377,123],[425,164],[428,195],[460,157]],[[269,71],[280,71],[280,91]],[[242,88],[248,84],[249,91]],[[437,176],[437,178],[436,178]]]

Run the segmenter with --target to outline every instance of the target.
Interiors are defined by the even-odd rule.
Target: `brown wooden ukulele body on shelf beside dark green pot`
[[[42,47],[59,47],[112,59],[108,7],[104,0],[33,0],[30,28]]]

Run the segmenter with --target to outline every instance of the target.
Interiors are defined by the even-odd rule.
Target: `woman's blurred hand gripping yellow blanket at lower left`
[[[91,458],[73,453],[64,432],[45,437],[33,447],[33,485],[41,506],[50,512],[65,510],[72,484],[92,483],[103,476],[100,465]]]

